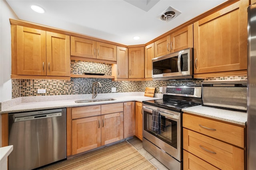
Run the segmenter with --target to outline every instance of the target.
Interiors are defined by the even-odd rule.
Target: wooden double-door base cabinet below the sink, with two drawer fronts
[[[123,121],[123,103],[72,108],[72,155],[122,140]]]

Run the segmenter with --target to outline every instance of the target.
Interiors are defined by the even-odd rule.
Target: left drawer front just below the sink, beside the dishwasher
[[[100,115],[100,105],[72,108],[72,119]]]

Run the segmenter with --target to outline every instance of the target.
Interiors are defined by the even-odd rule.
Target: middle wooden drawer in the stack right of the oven
[[[244,150],[186,128],[183,128],[183,148],[217,168],[244,169]]]

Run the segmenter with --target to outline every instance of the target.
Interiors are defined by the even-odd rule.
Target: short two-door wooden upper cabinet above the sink
[[[116,61],[116,45],[71,36],[71,55]]]

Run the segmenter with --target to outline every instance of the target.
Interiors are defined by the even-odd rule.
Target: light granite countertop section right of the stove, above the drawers
[[[213,107],[206,107],[202,105],[188,107],[188,108],[182,109],[182,111],[187,113],[192,113],[194,115],[199,115],[199,116],[209,117],[212,119],[235,123],[238,125],[246,125],[246,122],[247,122],[246,112],[216,109]]]

